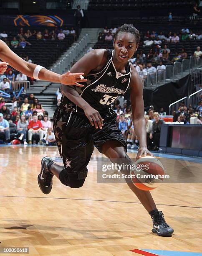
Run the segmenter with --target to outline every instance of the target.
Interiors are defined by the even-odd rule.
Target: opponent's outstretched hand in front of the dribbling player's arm
[[[83,84],[78,84],[78,82],[86,82],[87,79],[84,79],[83,77],[84,73],[70,73],[68,71],[65,74],[60,75],[60,82],[61,84],[66,84],[66,85],[77,85],[83,87]]]

